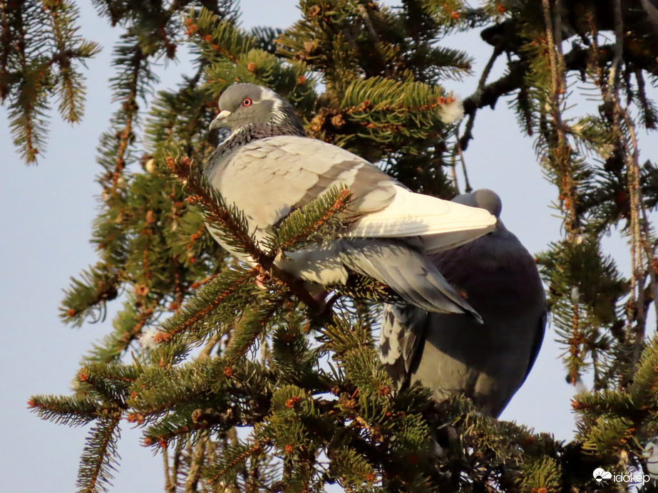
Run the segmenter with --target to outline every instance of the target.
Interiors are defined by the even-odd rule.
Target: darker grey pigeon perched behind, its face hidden
[[[432,256],[446,280],[483,319],[387,305],[381,360],[399,385],[420,381],[437,401],[461,393],[498,417],[535,363],[544,337],[546,298],[533,257],[500,221],[491,190],[454,202],[482,207],[498,218],[493,232]]]

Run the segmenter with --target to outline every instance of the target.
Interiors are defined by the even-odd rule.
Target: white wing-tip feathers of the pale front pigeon
[[[398,185],[394,187],[393,202],[359,217],[346,236],[420,236],[427,253],[433,253],[470,242],[495,228],[496,218],[484,209],[416,194]]]

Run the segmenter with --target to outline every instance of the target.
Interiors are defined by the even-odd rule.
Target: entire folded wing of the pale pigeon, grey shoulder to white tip
[[[261,229],[334,185],[351,190],[349,214],[358,219],[349,228],[349,237],[432,235],[433,245],[455,246],[495,225],[495,218],[482,209],[410,192],[361,157],[306,137],[250,142],[230,158],[220,182],[225,199],[235,202]],[[435,245],[432,251],[436,249]]]

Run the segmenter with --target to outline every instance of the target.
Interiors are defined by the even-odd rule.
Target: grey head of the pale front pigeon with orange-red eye
[[[287,133],[303,135],[302,122],[292,105],[273,90],[260,85],[238,83],[230,85],[219,100],[220,113],[210,123],[214,128],[228,128],[231,133],[254,125],[291,128]]]

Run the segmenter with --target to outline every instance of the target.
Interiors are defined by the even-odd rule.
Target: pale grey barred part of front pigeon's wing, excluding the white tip
[[[227,202],[234,202],[259,229],[268,229],[334,185],[352,192],[356,214],[389,204],[394,180],[349,151],[306,137],[255,140],[210,172],[210,181]]]

